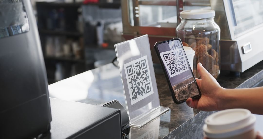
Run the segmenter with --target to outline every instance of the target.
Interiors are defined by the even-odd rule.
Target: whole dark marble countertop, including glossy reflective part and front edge
[[[194,110],[186,103],[176,105],[164,75],[158,74],[161,73],[158,66],[155,68],[160,104],[170,110],[141,128],[131,127],[129,138],[203,138],[204,118],[213,112]],[[263,61],[239,76],[221,71],[217,80],[225,88],[251,87],[263,78],[262,69]],[[125,107],[120,71],[111,63],[53,83],[49,85],[49,94],[53,98],[93,105],[118,100]]]

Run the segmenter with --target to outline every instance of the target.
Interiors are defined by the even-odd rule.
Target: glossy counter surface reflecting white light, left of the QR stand
[[[53,83],[48,88],[53,98],[93,105],[115,99],[125,106],[120,71],[111,63]]]

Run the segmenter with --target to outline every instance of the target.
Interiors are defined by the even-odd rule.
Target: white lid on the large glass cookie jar
[[[181,18],[203,19],[215,17],[215,11],[211,9],[193,9],[180,12]]]

